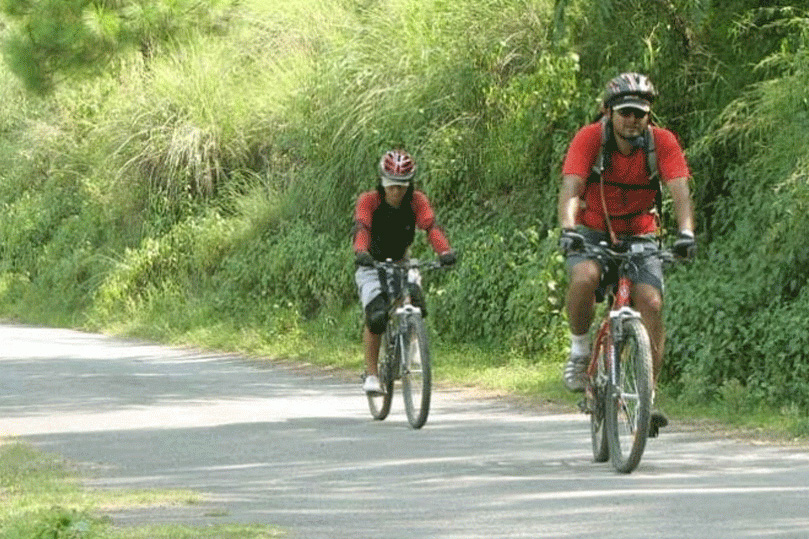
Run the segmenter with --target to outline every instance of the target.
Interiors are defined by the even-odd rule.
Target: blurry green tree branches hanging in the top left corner
[[[139,50],[189,31],[215,28],[227,0],[1,0],[9,27],[3,54],[11,71],[34,92],[48,93],[60,78],[114,68]]]

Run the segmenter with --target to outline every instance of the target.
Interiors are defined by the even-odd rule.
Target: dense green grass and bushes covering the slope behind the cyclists
[[[809,408],[805,11],[754,0],[327,4],[196,3],[210,24],[164,36],[148,58],[116,48],[92,78],[50,63],[65,77],[48,79],[46,97],[3,77],[3,310],[158,335],[213,327],[267,341],[314,324],[353,338],[353,203],[380,153],[404,146],[461,253],[456,272],[430,283],[433,327],[558,363],[560,163],[604,82],[638,70],[660,89],[656,121],[687,150],[699,212],[699,259],[669,280],[664,381],[695,402],[735,392],[750,407]],[[15,47],[40,19],[31,3],[4,6],[21,73]]]

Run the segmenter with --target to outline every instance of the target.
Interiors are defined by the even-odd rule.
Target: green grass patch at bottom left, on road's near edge
[[[188,506],[202,498],[186,490],[92,490],[69,462],[0,439],[0,539],[260,539],[282,537],[272,526],[136,526],[116,528],[108,512]]]

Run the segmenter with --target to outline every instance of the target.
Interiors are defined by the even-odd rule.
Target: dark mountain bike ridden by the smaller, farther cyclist
[[[375,267],[390,275],[388,286],[388,325],[379,345],[379,382],[382,393],[369,393],[368,406],[374,419],[383,420],[390,412],[393,383],[402,382],[407,421],[420,429],[430,413],[432,373],[430,345],[422,309],[414,304],[420,290],[421,271],[443,268],[438,262],[416,259],[377,262]]]

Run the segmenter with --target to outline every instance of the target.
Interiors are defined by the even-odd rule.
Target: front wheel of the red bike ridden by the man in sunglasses
[[[607,388],[607,436],[613,467],[630,473],[646,447],[652,413],[652,346],[639,318],[622,322],[614,348],[617,379],[610,377]]]

